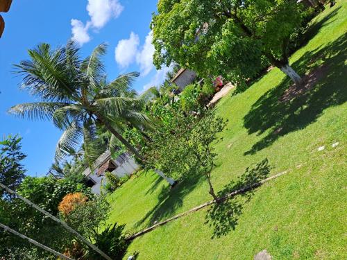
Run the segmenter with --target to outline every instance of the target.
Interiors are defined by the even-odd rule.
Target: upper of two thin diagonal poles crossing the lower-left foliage
[[[93,245],[92,243],[90,243],[90,241],[88,241],[87,239],[85,239],[84,236],[82,236],[81,234],[79,234],[75,229],[72,229],[71,227],[69,227],[67,225],[67,223],[65,223],[64,221],[60,220],[59,218],[56,218],[55,216],[53,216],[52,214],[49,214],[47,211],[45,211],[44,209],[41,209],[39,206],[35,205],[33,202],[31,202],[30,200],[27,200],[26,198],[24,198],[23,196],[20,196],[17,192],[12,191],[12,189],[8,188],[7,186],[3,185],[0,182],[0,187],[5,189],[6,191],[8,191],[8,193],[14,194],[15,196],[17,196],[19,199],[23,200],[24,202],[26,202],[26,204],[28,204],[29,206],[33,207],[34,209],[37,209],[38,211],[40,211],[42,214],[48,216],[49,218],[51,218],[52,220],[56,221],[57,223],[59,223],[60,225],[62,225],[62,227],[64,227],[65,229],[67,229],[69,232],[71,232],[72,234],[74,234],[76,237],[78,237],[78,239],[81,239],[81,241],[83,241],[84,243],[86,243],[90,248],[92,248],[92,250],[94,250],[95,252],[98,252],[101,257],[103,257],[104,259],[107,260],[112,260],[111,257],[109,257],[107,254],[105,254],[103,251],[101,251],[99,248],[97,248],[95,245]]]

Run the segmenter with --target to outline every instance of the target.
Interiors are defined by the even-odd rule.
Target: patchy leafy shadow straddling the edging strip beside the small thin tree
[[[246,168],[245,173],[239,176],[237,181],[230,182],[219,191],[218,197],[223,198],[229,193],[246,188],[245,192],[221,200],[208,209],[205,224],[214,228],[211,239],[226,236],[231,230],[235,230],[244,205],[251,200],[260,181],[269,176],[270,169],[268,159],[263,159],[254,168]],[[247,189],[248,187],[252,188]]]

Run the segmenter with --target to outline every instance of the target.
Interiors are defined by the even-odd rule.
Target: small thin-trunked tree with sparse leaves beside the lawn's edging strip
[[[175,107],[166,107],[170,116],[162,124],[160,132],[151,135],[153,140],[146,148],[146,162],[149,168],[155,166],[176,179],[187,175],[204,175],[210,187],[210,194],[218,201],[211,182],[214,166],[213,144],[221,138],[219,132],[226,121],[215,116],[214,110],[205,110],[201,118],[184,114]]]

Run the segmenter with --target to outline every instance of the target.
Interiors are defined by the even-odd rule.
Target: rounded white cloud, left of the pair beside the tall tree
[[[115,60],[122,68],[135,61],[139,46],[139,35],[131,32],[128,39],[120,40],[115,48]]]

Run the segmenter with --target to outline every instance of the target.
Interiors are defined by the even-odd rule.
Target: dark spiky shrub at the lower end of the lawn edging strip
[[[122,259],[126,253],[126,248],[128,248],[128,243],[123,235],[124,226],[125,225],[117,225],[117,223],[113,226],[108,225],[103,232],[95,234],[94,236],[96,247],[115,260]],[[89,257],[90,259],[103,260],[103,258],[94,251],[89,252]]]

